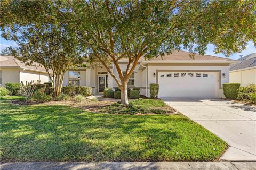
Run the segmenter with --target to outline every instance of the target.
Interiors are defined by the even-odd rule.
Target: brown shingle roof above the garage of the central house
[[[194,59],[190,57],[192,53],[190,52],[185,52],[185,51],[173,51],[172,54],[166,54],[162,58],[157,57],[157,58],[152,58],[150,61],[155,61],[155,60],[221,60],[221,61],[234,61],[229,58],[222,58],[222,57],[217,57],[217,56],[211,56],[211,55],[200,55],[200,54],[195,54]],[[145,60],[142,58],[142,60]]]

